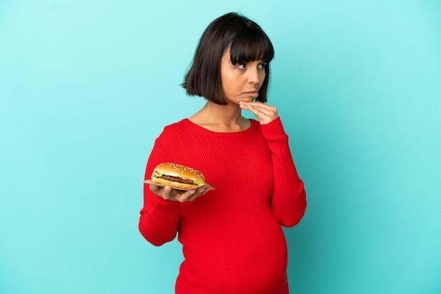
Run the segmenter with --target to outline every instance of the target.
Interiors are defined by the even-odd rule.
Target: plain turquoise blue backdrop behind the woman
[[[230,11],[273,41],[306,184],[292,293],[441,293],[436,0],[1,1],[0,293],[173,293],[180,244],[137,230],[144,167],[203,106],[179,84]]]

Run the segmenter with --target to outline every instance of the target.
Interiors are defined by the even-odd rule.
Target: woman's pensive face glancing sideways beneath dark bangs
[[[223,98],[227,103],[254,101],[265,79],[266,63],[262,60],[232,64],[230,51],[221,60],[221,82]]]

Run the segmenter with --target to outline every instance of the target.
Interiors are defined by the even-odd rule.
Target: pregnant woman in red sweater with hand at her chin
[[[281,226],[302,219],[306,196],[278,112],[264,103],[273,54],[253,21],[237,13],[214,20],[182,84],[206,105],[155,141],[146,179],[159,163],[175,162],[216,188],[144,187],[141,234],[157,246],[176,234],[182,243],[175,293],[288,293]]]

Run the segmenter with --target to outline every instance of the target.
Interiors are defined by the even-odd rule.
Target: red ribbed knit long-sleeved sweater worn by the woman
[[[184,119],[164,128],[145,178],[161,162],[202,172],[215,187],[192,202],[154,195],[144,186],[139,231],[154,245],[178,233],[184,262],[178,294],[287,294],[287,244],[281,226],[306,209],[280,118],[251,120],[242,132],[211,132]]]

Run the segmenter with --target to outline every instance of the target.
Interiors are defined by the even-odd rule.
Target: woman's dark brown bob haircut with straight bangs
[[[202,34],[192,66],[181,84],[187,95],[201,96],[219,105],[227,104],[222,92],[221,59],[228,49],[233,65],[256,60],[266,63],[265,79],[256,99],[266,102],[273,44],[259,25],[238,13],[216,18]]]

